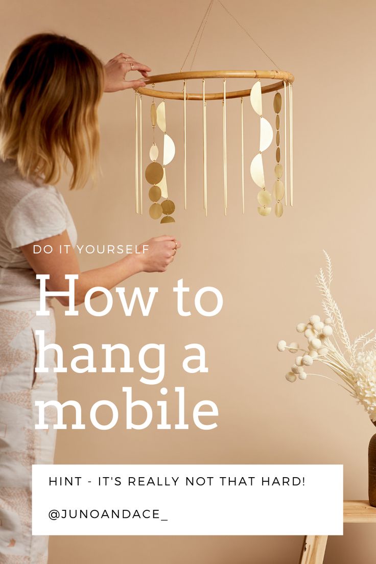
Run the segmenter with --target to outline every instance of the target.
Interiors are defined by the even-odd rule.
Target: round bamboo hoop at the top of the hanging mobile
[[[294,75],[285,70],[193,70],[189,72],[175,72],[168,74],[156,74],[144,78],[144,82],[148,85],[158,84],[160,82],[175,82],[179,80],[194,80],[194,79],[209,79],[209,78],[267,78],[269,80],[276,80],[266,86],[263,86],[261,91],[263,94],[267,92],[275,92],[284,87],[284,83],[293,83]],[[184,100],[184,92],[174,92],[169,90],[154,90],[145,86],[136,89],[136,91],[143,96],[151,96],[151,98],[164,98],[166,100]],[[249,96],[249,90],[233,90],[226,93],[228,98],[245,98]],[[185,94],[186,100],[202,100],[202,94]],[[205,100],[223,100],[223,92],[214,92],[213,94],[205,93]]]

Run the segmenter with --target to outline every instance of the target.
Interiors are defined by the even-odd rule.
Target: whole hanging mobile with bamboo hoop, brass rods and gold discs
[[[263,51],[263,54],[267,56],[270,63],[272,64],[273,70],[192,70],[194,60],[200,46],[202,36],[209,18],[211,8],[213,8],[214,2],[216,0],[210,0],[209,6],[207,6],[205,15],[201,21],[200,27],[197,30],[196,36],[193,39],[192,45],[188,50],[187,56],[185,56],[182,67],[180,67],[180,72],[172,72],[166,74],[158,74],[156,76],[144,77],[145,87],[139,87],[137,89],[138,94],[143,96],[151,96],[153,98],[152,103],[152,127],[153,127],[153,144],[150,150],[151,163],[147,166],[145,170],[145,177],[148,182],[152,184],[149,190],[149,198],[151,199],[152,206],[149,210],[151,216],[155,219],[161,218],[161,223],[174,222],[175,219],[172,214],[175,211],[175,204],[169,199],[169,194],[167,192],[167,180],[166,180],[166,166],[172,161],[175,155],[175,145],[171,137],[167,135],[166,131],[166,105],[165,100],[180,100],[183,104],[183,188],[184,188],[184,208],[187,208],[187,104],[191,104],[193,100],[200,100],[202,103],[202,127],[203,127],[203,146],[204,146],[204,174],[203,174],[203,187],[204,187],[204,209],[205,215],[207,215],[207,196],[208,196],[208,186],[207,183],[207,155],[206,155],[206,140],[207,140],[207,124],[206,124],[206,112],[207,103],[212,100],[222,100],[223,102],[223,192],[224,192],[224,213],[227,213],[228,195],[229,189],[234,184],[231,181],[230,174],[228,172],[230,169],[227,168],[228,152],[227,152],[227,137],[228,130],[227,126],[229,124],[229,116],[231,114],[227,113],[228,104],[231,103],[233,99],[240,99],[241,102],[241,202],[242,202],[242,212],[245,211],[245,178],[244,178],[244,150],[247,132],[246,115],[243,113],[243,100],[247,96],[250,96],[251,106],[255,113],[259,117],[259,147],[258,153],[254,156],[250,164],[250,175],[256,186],[259,187],[257,193],[258,200],[258,213],[262,216],[269,215],[272,211],[272,201],[274,201],[274,210],[277,217],[285,211],[285,206],[283,200],[285,200],[285,205],[287,205],[287,199],[289,196],[290,205],[293,205],[293,74],[281,70],[280,67],[275,63],[275,61],[269,57],[269,55],[264,51],[255,39],[251,36],[249,32],[243,27],[240,21],[236,19],[235,16],[224,6],[222,0],[218,0],[219,5],[227,12],[229,16],[235,21],[235,23],[242,29],[244,33],[253,41],[259,49]],[[189,70],[183,70],[185,63],[188,61],[189,55],[193,53],[193,59]],[[222,92],[213,92],[208,86],[208,81],[211,79],[222,78],[223,80],[223,90]],[[230,90],[229,81],[232,79],[236,80],[252,80],[255,79],[256,82],[251,87],[246,90]],[[189,92],[187,84],[188,82],[200,80],[202,82],[202,92],[196,91]],[[263,86],[260,81],[263,81]],[[183,82],[182,90],[175,91],[174,89],[167,90],[154,90],[154,85],[159,85],[161,83],[174,83]],[[188,82],[187,82],[188,81]],[[264,82],[266,81],[266,82]],[[284,95],[284,104],[282,104],[282,96],[280,91]],[[271,146],[273,141],[273,127],[266,118],[263,116],[263,98],[264,95],[268,95],[271,92],[275,94],[273,100],[273,106],[276,114],[276,164],[274,166],[275,179],[273,183],[272,190],[267,190],[266,179],[264,174],[264,162],[263,156],[264,151]],[[288,97],[288,103],[286,98]],[[162,100],[158,106],[154,103],[154,98]],[[281,143],[281,110],[283,105],[284,115],[284,126],[282,126],[282,133],[284,139]],[[287,115],[288,114],[288,115]],[[288,121],[287,121],[288,118]],[[141,131],[138,129],[138,123],[141,122],[141,100],[140,108],[138,114],[138,104],[136,103],[136,170],[135,170],[135,185],[136,185],[136,211],[142,213],[142,183],[140,180],[140,168],[141,168],[141,148],[139,147],[142,143]],[[227,123],[228,122],[228,123]],[[161,164],[157,162],[158,158],[158,148],[154,140],[154,129],[158,126],[163,132],[163,157],[161,159]],[[288,139],[287,139],[288,137]],[[230,142],[230,139],[228,139]],[[231,143],[232,144],[232,143]],[[231,151],[233,153],[233,151]],[[281,153],[284,158],[284,166],[281,162]],[[288,169],[288,170],[287,170]],[[287,182],[287,172],[288,182]],[[282,177],[284,182],[282,182]],[[288,184],[288,190],[287,190]],[[140,196],[141,192],[141,196]],[[163,199],[162,202],[160,200]],[[163,216],[163,217],[162,217]]]

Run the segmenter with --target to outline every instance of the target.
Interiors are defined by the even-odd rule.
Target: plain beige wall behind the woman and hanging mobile
[[[361,407],[329,382],[310,378],[287,384],[293,357],[280,355],[275,343],[293,340],[295,324],[320,311],[314,275],[331,254],[334,293],[352,336],[375,324],[374,301],[374,2],[360,0],[228,1],[229,9],[284,69],[295,74],[295,206],[278,220],[260,218],[257,189],[248,166],[255,154],[257,122],[245,102],[246,214],[240,209],[239,105],[228,104],[229,208],[223,214],[220,103],[208,108],[209,217],[202,202],[200,108],[189,106],[188,210],[182,205],[182,106],[167,104],[168,131],[176,141],[169,165],[170,197],[183,247],[163,275],[139,275],[126,282],[160,294],[149,318],[125,318],[120,309],[92,319],[63,318],[57,307],[58,342],[125,342],[132,357],[147,342],[167,343],[165,385],[185,385],[188,406],[203,398],[220,409],[219,427],[137,432],[117,427],[101,432],[60,431],[56,462],[92,463],[338,463],[344,464],[344,494],[367,495],[366,451],[372,434]],[[201,2],[98,0],[2,2],[1,63],[31,33],[54,30],[91,47],[104,61],[129,51],[153,72],[179,70],[204,13]],[[214,5],[197,56],[200,68],[269,68],[271,64]],[[150,100],[143,99],[147,116]],[[264,101],[273,116],[272,96]],[[79,243],[139,243],[166,232],[145,214],[134,213],[134,95],[105,94],[100,108],[101,168],[97,191],[67,193],[60,183],[79,232]],[[151,129],[144,124],[144,160]],[[267,180],[272,181],[272,149]],[[146,190],[145,190],[146,194]],[[145,196],[147,208],[147,196]],[[108,263],[109,257],[82,257],[82,268]],[[216,318],[179,318],[171,289],[184,278],[194,291],[218,287],[224,296]],[[192,305],[192,301],[190,302]],[[201,342],[208,375],[184,374],[183,347]],[[69,354],[69,352],[68,352]],[[60,400],[77,399],[86,419],[92,403],[121,404],[121,386],[131,384],[138,398],[151,402],[157,389],[134,375],[60,377]],[[170,397],[172,394],[170,394]],[[174,403],[174,402],[172,402]],[[171,407],[171,415],[175,413]],[[271,511],[273,508],[271,507]],[[307,508],[309,510],[309,508]],[[325,510],[325,509],[324,509]],[[343,537],[329,539],[326,563],[374,561],[375,527],[348,525]],[[140,562],[141,564],[278,564],[297,561],[300,537],[53,537],[50,562]]]

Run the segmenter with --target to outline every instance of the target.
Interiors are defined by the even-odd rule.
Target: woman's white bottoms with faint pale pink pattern
[[[32,536],[32,464],[54,461],[56,419],[46,408],[48,430],[36,430],[36,400],[57,399],[54,351],[46,373],[36,373],[36,330],[55,342],[54,309],[36,316],[39,302],[0,303],[0,564],[47,564],[47,536]]]

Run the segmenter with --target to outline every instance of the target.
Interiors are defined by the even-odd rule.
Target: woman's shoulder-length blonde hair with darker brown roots
[[[55,184],[73,167],[69,188],[97,178],[101,61],[76,41],[54,33],[26,38],[0,77],[0,158],[22,177]]]

